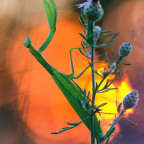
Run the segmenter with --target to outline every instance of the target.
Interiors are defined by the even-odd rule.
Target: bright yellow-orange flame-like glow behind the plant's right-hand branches
[[[108,65],[106,63],[100,63],[100,64],[96,64],[95,68],[98,70],[98,72],[100,73],[100,71],[104,70],[104,67],[107,67]],[[114,75],[110,75],[108,77],[109,80],[112,80],[115,76]],[[82,80],[83,79],[83,80]],[[101,81],[101,77],[97,76],[95,77],[96,82],[99,83]],[[107,79],[103,82],[103,84],[101,85],[101,88],[104,87],[105,83],[106,83]],[[84,74],[84,77],[81,78],[80,80],[77,81],[80,85],[82,85],[82,88],[87,88],[88,90],[90,90],[91,94],[92,94],[92,84],[91,84],[91,70],[87,70],[87,73]],[[108,104],[102,107],[102,113],[111,113],[111,114],[102,114],[101,116],[99,114],[98,117],[101,120],[102,126],[103,126],[103,130],[104,132],[106,132],[109,128],[109,124],[111,124],[111,122],[113,121],[115,115],[117,115],[117,107],[116,107],[116,100],[117,100],[117,104],[119,104],[123,97],[129,93],[131,91],[131,85],[129,84],[129,81],[127,79],[127,77],[123,78],[121,81],[116,80],[111,86],[110,88],[115,88],[115,87],[119,87],[119,89],[117,90],[111,90],[108,91],[106,93],[98,93],[96,95],[96,101],[95,104],[96,105],[100,105],[102,103],[107,102]],[[126,114],[130,114],[132,113],[133,110],[127,110]],[[119,131],[119,128],[117,126],[117,133]]]

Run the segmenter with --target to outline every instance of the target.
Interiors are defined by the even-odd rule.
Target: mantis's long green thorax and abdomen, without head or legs
[[[75,112],[78,114],[78,116],[82,120],[85,117],[87,117],[86,111],[79,104],[78,98],[77,98],[77,96],[79,96],[80,100],[83,98],[83,90],[80,90],[80,88],[67,75],[65,75],[64,73],[61,73],[60,71],[56,70],[52,65],[50,65],[43,58],[43,56],[37,50],[35,50],[35,48],[32,45],[30,46],[29,51],[37,59],[37,61],[49,72],[49,74],[52,76],[53,80],[55,81],[56,85],[59,87],[61,92],[64,94],[64,96],[66,97],[68,102],[71,104],[71,106],[73,107]],[[89,107],[90,107],[90,105],[89,105]],[[102,128],[101,128],[101,133],[97,133],[98,118],[96,115],[94,115],[93,117],[94,117],[95,138],[99,137],[99,139],[101,139],[103,137]],[[88,129],[90,129],[89,119],[86,119],[84,121],[84,124],[87,126]]]

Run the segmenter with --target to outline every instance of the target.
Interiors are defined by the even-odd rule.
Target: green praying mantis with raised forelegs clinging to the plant
[[[78,77],[80,77],[90,66],[90,64],[78,75],[74,76],[74,65],[72,60],[72,50],[70,50],[70,57],[71,57],[71,64],[72,64],[72,73],[69,75],[66,75],[64,73],[59,72],[56,70],[52,65],[50,65],[42,56],[43,51],[47,48],[50,41],[52,40],[54,33],[56,31],[56,20],[57,20],[57,10],[56,6],[54,4],[53,0],[49,0],[49,3],[47,0],[43,0],[48,25],[50,27],[49,35],[46,39],[46,41],[42,44],[42,46],[39,48],[39,50],[35,50],[31,43],[31,38],[28,36],[26,40],[24,41],[24,45],[29,48],[30,53],[37,59],[37,61],[49,72],[49,74],[52,76],[53,80],[57,84],[57,86],[60,88],[66,99],[69,101],[75,112],[78,114],[78,116],[81,118],[81,122],[79,123],[68,123],[69,125],[72,125],[71,127],[63,128],[62,131],[56,132],[60,133],[63,131],[66,131],[68,129],[71,129],[80,123],[84,122],[84,124],[90,129],[90,109],[91,106],[89,103],[87,103],[88,98],[86,97],[86,92],[82,90],[79,85],[73,80]],[[80,48],[75,48],[80,49]],[[87,98],[87,101],[85,104],[83,104],[84,98]],[[85,107],[86,105],[86,107]],[[96,112],[95,112],[96,113]],[[94,115],[94,130],[95,130],[95,137],[101,139],[103,137],[103,131],[100,126],[100,121],[97,119],[97,116]]]

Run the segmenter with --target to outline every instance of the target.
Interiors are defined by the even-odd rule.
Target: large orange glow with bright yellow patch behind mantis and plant
[[[78,17],[78,15],[75,15]],[[33,45],[37,49],[44,42],[48,34],[47,23],[40,27],[35,27],[29,33],[32,37]],[[50,43],[49,47],[44,52],[44,57],[51,63],[55,68],[61,72],[71,73],[69,49],[72,47],[80,46],[81,37],[78,35],[80,31],[83,31],[82,27],[78,23],[58,19],[57,31],[54,39]],[[25,39],[26,35],[22,32],[21,39]],[[28,52],[28,49],[23,47],[20,50],[20,43],[18,43],[11,55],[11,59],[15,59],[15,52],[17,54],[17,61],[11,64],[11,73],[15,70],[26,69],[23,75],[23,83],[19,85],[17,75],[14,76],[15,83],[19,86],[19,92],[28,91],[29,97],[29,111],[28,111],[28,126],[37,137],[34,137],[38,144],[59,144],[60,141],[67,143],[67,140],[74,140],[73,143],[90,143],[90,134],[84,125],[81,125],[73,130],[65,132],[60,135],[51,135],[50,132],[60,130],[66,126],[66,122],[78,122],[79,117],[73,111],[70,104],[67,102],[61,91],[58,89],[56,84],[53,82],[51,76],[40,66],[35,58]],[[73,52],[73,59],[76,69],[76,74],[81,72],[88,62],[78,51]],[[26,64],[27,62],[28,64]],[[98,69],[103,69],[106,66],[105,63],[101,65],[96,64]],[[114,76],[111,75],[109,78],[112,79]],[[91,70],[88,69],[86,73],[77,80],[82,88],[87,88],[91,91]],[[100,82],[100,77],[96,77],[96,81]],[[118,103],[126,93],[131,90],[128,79],[125,78],[122,81],[117,81],[116,84],[111,87],[118,86],[119,90],[113,90],[104,94],[98,94],[96,96],[96,104],[102,104],[108,102],[103,107],[103,112],[117,113],[115,100]],[[132,112],[132,111],[129,111]],[[114,115],[102,114],[99,116],[102,120],[104,131],[108,129],[109,124],[112,122]],[[66,142],[65,142],[66,141]]]

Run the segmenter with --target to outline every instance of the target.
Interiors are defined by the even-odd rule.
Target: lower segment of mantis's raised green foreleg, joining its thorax
[[[55,29],[52,29],[49,32],[49,35],[47,37],[47,39],[45,40],[45,42],[41,45],[41,47],[39,48],[38,52],[42,55],[43,51],[47,48],[47,46],[49,45],[49,43],[51,42],[53,36],[55,34]]]

